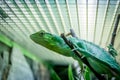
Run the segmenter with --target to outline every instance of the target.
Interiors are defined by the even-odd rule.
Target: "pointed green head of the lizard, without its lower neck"
[[[63,40],[60,36],[56,36],[50,33],[45,32],[44,30],[41,30],[39,32],[36,32],[32,35],[30,35],[30,38],[44,46],[44,47],[53,47],[53,46],[57,46],[58,44],[62,44]]]

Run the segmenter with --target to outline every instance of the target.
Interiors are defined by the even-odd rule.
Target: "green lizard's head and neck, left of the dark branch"
[[[44,30],[30,35],[30,38],[37,44],[44,46],[59,54],[70,56],[71,50],[65,44],[64,40],[57,35],[47,33]]]

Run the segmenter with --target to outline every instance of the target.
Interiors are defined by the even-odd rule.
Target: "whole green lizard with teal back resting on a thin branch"
[[[60,36],[41,30],[30,35],[30,38],[37,44],[52,51],[67,57],[73,57],[79,62],[81,61]],[[120,80],[120,66],[107,51],[85,40],[74,37],[68,37],[67,39],[74,45],[79,55],[87,58],[89,64],[96,72],[107,74],[109,78],[115,77]]]

